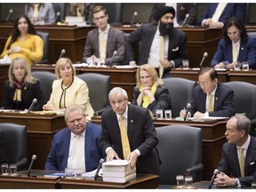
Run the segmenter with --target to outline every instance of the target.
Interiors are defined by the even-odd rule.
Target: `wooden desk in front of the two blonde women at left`
[[[67,124],[63,116],[0,113],[0,123],[24,124],[28,132],[28,163],[31,156],[37,156],[33,168],[44,169],[46,157],[52,147],[52,139],[56,132],[59,132]],[[28,164],[29,165],[29,164]]]

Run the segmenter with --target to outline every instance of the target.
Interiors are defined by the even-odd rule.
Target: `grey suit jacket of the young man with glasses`
[[[105,64],[109,65],[113,53],[116,51],[116,57],[113,60],[113,63],[122,63],[124,62],[124,32],[116,29],[116,28],[109,28],[108,31],[108,41],[107,41],[107,51],[106,51],[106,60]],[[84,56],[83,60],[86,62],[88,57],[95,55],[97,58],[100,57],[100,48],[99,48],[99,28],[94,28],[89,31],[86,37],[86,43],[84,47]]]

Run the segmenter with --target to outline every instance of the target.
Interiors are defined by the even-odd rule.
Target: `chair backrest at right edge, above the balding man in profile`
[[[247,82],[225,82],[234,91],[234,106],[236,114],[246,113],[252,120],[256,118],[256,85]]]

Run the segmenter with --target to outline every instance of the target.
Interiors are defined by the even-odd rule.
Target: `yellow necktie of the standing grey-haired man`
[[[124,116],[120,116],[119,122],[120,122],[120,132],[121,132],[124,159],[127,159],[127,156],[131,153],[131,149],[130,149],[127,131],[125,129]]]

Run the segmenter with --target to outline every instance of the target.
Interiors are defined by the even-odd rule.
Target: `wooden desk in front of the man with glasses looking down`
[[[100,116],[92,117],[92,123],[101,124]],[[212,172],[219,164],[222,145],[227,141],[224,133],[226,132],[226,121],[212,122],[192,122],[192,121],[176,121],[176,120],[159,120],[154,119],[157,127],[170,124],[186,124],[189,126],[200,127],[203,132],[203,180],[211,180]]]

